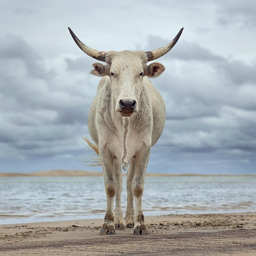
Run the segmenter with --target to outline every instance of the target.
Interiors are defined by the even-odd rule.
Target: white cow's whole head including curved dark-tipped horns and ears
[[[94,50],[82,43],[73,31],[68,28],[74,41],[81,50],[98,61],[104,61],[107,65],[94,63],[94,70],[91,74],[97,76],[109,76],[111,90],[115,102],[115,111],[121,116],[131,116],[139,111],[139,98],[142,89],[144,76],[151,78],[159,76],[164,70],[164,66],[158,62],[147,65],[148,61],[154,61],[175,46],[179,40],[183,28],[175,38],[167,45],[149,52],[101,52]]]

